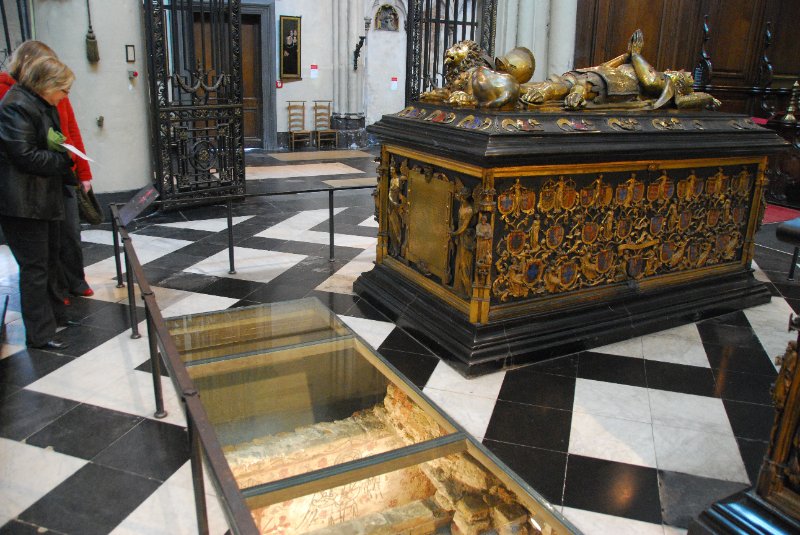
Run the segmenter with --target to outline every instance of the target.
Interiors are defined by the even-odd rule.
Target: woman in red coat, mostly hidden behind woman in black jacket
[[[8,72],[0,72],[0,99],[16,83],[22,75],[25,65],[36,58],[58,56],[52,48],[41,41],[25,41],[20,44],[8,64]],[[81,152],[86,152],[83,145],[83,137],[75,119],[75,112],[69,98],[64,98],[56,106],[58,110],[61,132],[66,138],[65,142],[78,148]],[[92,184],[92,170],[89,162],[77,156],[72,157],[72,170],[78,178],[84,191],[89,191]],[[89,297],[94,295],[94,291],[86,282],[86,274],[83,270],[83,251],[81,249],[81,227],[78,214],[78,203],[75,191],[65,188],[64,192],[64,223],[61,228],[61,273],[59,278],[60,291],[63,292],[62,298],[69,302],[69,294]]]

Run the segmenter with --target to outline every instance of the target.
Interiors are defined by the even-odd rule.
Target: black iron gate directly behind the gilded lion
[[[442,86],[444,51],[470,39],[494,54],[497,0],[411,0],[408,11],[406,102]]]

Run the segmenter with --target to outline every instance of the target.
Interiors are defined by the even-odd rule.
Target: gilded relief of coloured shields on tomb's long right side
[[[737,260],[755,173],[745,165],[520,177],[497,194],[492,297],[505,302]]]

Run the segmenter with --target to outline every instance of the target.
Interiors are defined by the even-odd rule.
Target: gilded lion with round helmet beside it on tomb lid
[[[533,76],[533,53],[517,47],[492,61],[474,41],[454,44],[444,55],[444,87],[420,95],[424,102],[460,107],[513,108],[520,84]]]

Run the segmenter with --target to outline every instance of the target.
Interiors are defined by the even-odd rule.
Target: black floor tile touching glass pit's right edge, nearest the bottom
[[[483,444],[553,505],[561,505],[567,454],[494,440]]]

